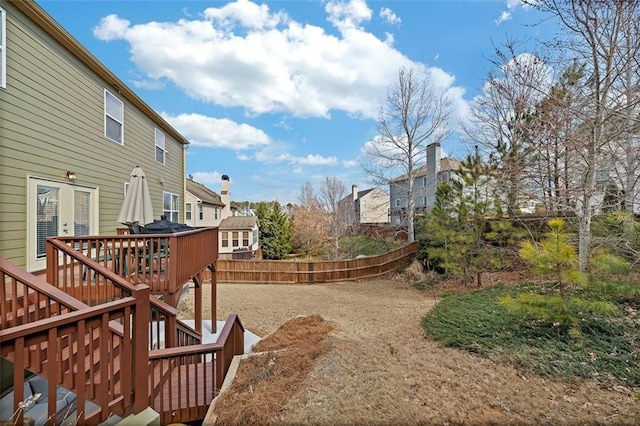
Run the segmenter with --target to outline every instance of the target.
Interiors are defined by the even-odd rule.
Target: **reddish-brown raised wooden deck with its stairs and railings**
[[[130,246],[135,249],[125,259],[123,248]],[[165,250],[157,261],[155,247]],[[199,287],[217,257],[217,229],[51,237],[46,248],[44,276],[0,258],[0,355],[13,362],[14,388],[23,388],[25,369],[45,377],[50,418],[57,386],[75,393],[78,406],[96,404],[97,410],[78,413],[79,425],[147,407],[160,413],[162,424],[202,420],[231,359],[244,350],[236,315],[208,344],[177,319],[177,296],[193,281],[201,327]],[[154,297],[160,294],[164,301]],[[212,310],[215,315],[215,304]],[[154,349],[154,341],[165,347]],[[14,409],[19,402],[17,395]],[[21,423],[22,414],[15,420]]]

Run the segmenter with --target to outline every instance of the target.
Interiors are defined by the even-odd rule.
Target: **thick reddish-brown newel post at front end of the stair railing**
[[[151,290],[140,284],[134,292],[136,312],[133,320],[133,411],[138,414],[149,406],[149,319]],[[124,375],[123,375],[124,377]]]

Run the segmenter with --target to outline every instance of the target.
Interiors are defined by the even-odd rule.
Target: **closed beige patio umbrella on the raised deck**
[[[130,176],[129,189],[122,202],[118,222],[129,226],[144,226],[153,222],[153,205],[151,204],[149,185],[140,166],[136,166]]]

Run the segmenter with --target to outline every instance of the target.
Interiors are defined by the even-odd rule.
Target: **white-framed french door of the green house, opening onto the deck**
[[[47,237],[96,235],[98,189],[29,178],[27,268],[46,268]]]

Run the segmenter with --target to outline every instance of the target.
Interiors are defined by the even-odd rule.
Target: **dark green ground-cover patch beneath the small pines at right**
[[[615,319],[586,317],[583,335],[576,339],[551,324],[510,314],[498,303],[501,296],[548,291],[534,284],[499,285],[450,296],[423,319],[422,326],[446,346],[506,359],[539,374],[640,386],[638,307],[620,305],[625,314]]]

